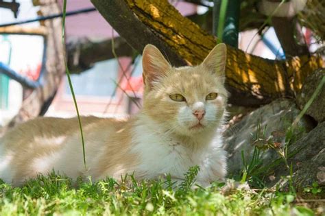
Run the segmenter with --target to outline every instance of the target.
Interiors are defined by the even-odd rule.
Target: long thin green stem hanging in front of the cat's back
[[[62,16],[62,45],[63,47],[65,47],[65,15],[67,12],[67,0],[63,1],[63,16]],[[65,54],[65,49],[64,49],[64,54]],[[75,99],[75,92],[73,91],[73,86],[72,86],[72,82],[71,82],[71,77],[70,77],[70,72],[69,72],[69,68],[68,68],[68,64],[67,64],[67,60],[66,60],[66,55],[64,55],[64,64],[65,64],[65,69],[66,69],[66,73],[67,73],[67,77],[68,77],[68,82],[69,82],[69,87],[71,90],[71,95],[73,97],[73,103],[75,104],[75,110],[77,111],[77,119],[79,122],[79,128],[80,128],[80,134],[81,134],[81,138],[82,138],[82,154],[84,156],[84,167],[87,170],[87,166],[86,166],[86,152],[84,149],[84,132],[82,131],[82,122],[81,122],[81,118],[79,115],[79,109],[77,106],[77,100]]]

